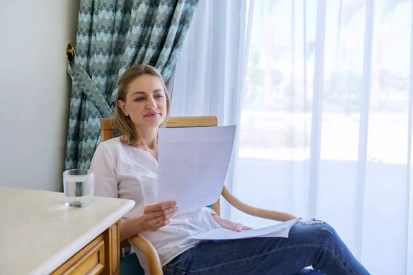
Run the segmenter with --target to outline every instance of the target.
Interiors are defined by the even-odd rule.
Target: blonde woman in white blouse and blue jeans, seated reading
[[[114,115],[120,137],[99,144],[92,159],[95,195],[136,201],[120,221],[120,239],[145,236],[156,248],[165,274],[296,274],[313,265],[326,274],[368,274],[326,223],[294,225],[288,238],[233,241],[188,239],[213,230],[247,226],[219,217],[210,208],[172,217],[174,201],[144,205],[156,185],[158,129],[169,118],[170,99],[159,72],[147,65],[129,68],[118,82]],[[145,257],[134,248],[149,274]]]

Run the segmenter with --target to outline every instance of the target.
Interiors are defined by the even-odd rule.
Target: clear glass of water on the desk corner
[[[63,172],[65,205],[90,206],[93,203],[94,173],[88,169],[72,169]]]

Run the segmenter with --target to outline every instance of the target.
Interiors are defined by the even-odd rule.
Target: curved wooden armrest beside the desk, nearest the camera
[[[129,241],[134,243],[134,245],[136,245],[136,247],[145,255],[151,275],[163,275],[159,256],[155,248],[153,248],[153,245],[149,243],[145,237],[140,236],[140,234],[132,236],[129,238]]]

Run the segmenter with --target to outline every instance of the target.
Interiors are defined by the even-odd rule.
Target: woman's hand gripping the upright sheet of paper
[[[171,217],[177,211],[176,201],[165,201],[145,206],[142,214],[144,231],[156,231],[169,224]]]

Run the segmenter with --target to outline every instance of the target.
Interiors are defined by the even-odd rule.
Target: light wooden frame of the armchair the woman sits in
[[[175,117],[170,118],[167,122],[167,127],[199,127],[199,126],[218,126],[218,120],[215,116],[203,116],[203,117]],[[100,139],[102,142],[109,140],[114,137],[114,128],[112,126],[112,118],[100,118]],[[277,212],[271,210],[264,210],[261,208],[255,208],[253,206],[248,206],[236,197],[234,197],[231,192],[224,186],[221,193],[222,197],[226,199],[232,206],[241,210],[246,214],[251,214],[255,217],[261,217],[264,219],[271,219],[275,221],[288,221],[290,219],[295,219],[291,214],[284,212]],[[213,204],[213,210],[220,214],[220,199]],[[139,234],[133,236],[129,239],[131,243],[134,243],[136,247],[145,254],[147,262],[149,264],[149,270],[151,275],[161,275],[162,266],[160,265],[158,253],[156,252],[153,245],[149,243],[147,239]],[[120,263],[122,265],[122,261]]]

